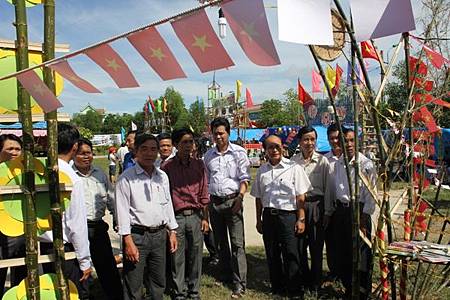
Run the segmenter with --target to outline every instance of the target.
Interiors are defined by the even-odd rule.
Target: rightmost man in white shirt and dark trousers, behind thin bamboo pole
[[[367,179],[370,185],[370,189],[376,195],[376,169],[372,161],[365,157],[362,153],[359,153],[358,162],[355,162],[355,132],[351,129],[344,128],[343,134],[345,137],[345,144],[347,154],[349,157],[349,167],[352,185],[354,185],[355,170],[354,164],[359,164],[359,171],[362,177]],[[336,201],[334,212],[334,220],[336,222],[336,228],[338,231],[339,242],[337,243],[337,257],[338,260],[338,275],[346,288],[346,293],[351,292],[352,283],[352,205],[350,203],[350,193],[348,188],[348,179],[345,170],[344,158],[341,156],[335,166],[335,186],[336,186]],[[369,188],[359,181],[360,195],[359,208],[360,208],[360,230],[365,236],[370,239],[371,236],[371,215],[375,211],[375,198],[369,191]],[[354,187],[353,187],[354,191]],[[361,283],[361,299],[366,299],[371,293],[371,273],[370,263],[372,260],[372,249],[369,248],[362,240],[360,240],[361,262],[360,262],[360,283]]]

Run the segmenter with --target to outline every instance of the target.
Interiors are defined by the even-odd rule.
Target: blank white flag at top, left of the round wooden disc
[[[280,41],[333,45],[331,0],[278,0]]]

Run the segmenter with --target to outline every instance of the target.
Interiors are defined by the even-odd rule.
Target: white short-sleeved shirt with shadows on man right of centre
[[[296,196],[312,189],[303,168],[287,158],[272,166],[263,164],[256,172],[250,194],[260,198],[263,207],[282,210],[297,210]]]

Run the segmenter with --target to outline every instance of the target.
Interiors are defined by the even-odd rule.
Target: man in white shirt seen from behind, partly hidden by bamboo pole
[[[69,165],[78,149],[80,134],[72,125],[58,125],[58,166],[59,171],[68,175],[73,188],[70,195],[70,204],[62,214],[64,250],[75,251],[77,259],[66,260],[64,275],[70,279],[78,289],[80,299],[89,299],[87,279],[91,275],[91,254],[84,199],[84,188],[78,175]],[[53,234],[47,231],[41,235],[43,253],[51,253]],[[54,273],[53,264],[43,265],[44,273]]]

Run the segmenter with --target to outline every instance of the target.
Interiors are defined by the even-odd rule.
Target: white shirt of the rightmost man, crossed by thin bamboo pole
[[[355,178],[355,168],[353,167],[353,162],[355,158],[353,157],[351,161],[349,162],[350,165],[350,176],[352,180]],[[348,180],[347,180],[347,173],[345,171],[345,164],[344,164],[344,156],[341,155],[338,162],[335,166],[335,186],[336,186],[336,199],[338,201],[341,201],[342,203],[349,203],[350,202],[350,193],[348,190]],[[365,157],[362,153],[359,153],[359,171],[363,176],[366,176],[368,179],[368,182],[370,183],[371,187],[376,192],[376,181],[377,181],[377,173],[375,170],[375,166],[373,165],[372,161]],[[360,186],[360,196],[359,196],[359,202],[363,203],[363,212],[371,215],[375,211],[375,199],[373,198],[372,194],[369,192],[367,187],[364,185],[364,183],[360,180],[358,180],[359,186]]]

